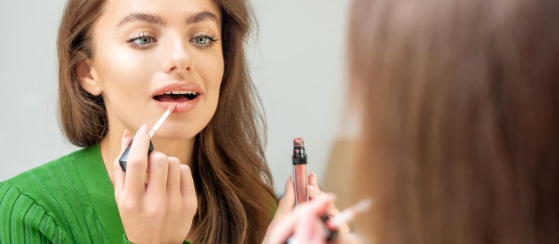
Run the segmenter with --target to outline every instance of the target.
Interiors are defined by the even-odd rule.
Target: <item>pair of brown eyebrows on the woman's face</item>
[[[192,15],[189,15],[187,17],[187,24],[196,24],[199,22],[204,22],[204,21],[213,21],[216,24],[219,25],[219,18],[208,11],[204,11],[204,12],[200,12],[200,13],[194,13]],[[131,22],[147,22],[149,24],[157,24],[157,25],[161,25],[161,26],[165,26],[166,22],[165,20],[163,20],[163,18],[159,15],[154,15],[151,13],[131,13],[129,15],[127,15],[126,17],[124,17],[118,24],[117,27],[122,27],[126,24],[129,24]]]

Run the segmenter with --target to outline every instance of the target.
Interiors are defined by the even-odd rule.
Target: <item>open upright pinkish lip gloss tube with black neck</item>
[[[293,139],[293,186],[295,188],[295,204],[309,201],[308,177],[307,177],[307,153],[305,153],[305,142],[302,137]]]

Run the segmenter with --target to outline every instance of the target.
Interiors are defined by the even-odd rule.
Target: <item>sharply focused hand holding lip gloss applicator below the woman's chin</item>
[[[147,125],[142,125],[136,132],[126,172],[120,169],[118,159],[113,167],[115,199],[124,231],[131,243],[182,243],[198,206],[191,171],[178,158],[159,151],[148,156],[147,131]],[[121,153],[131,141],[125,131]]]

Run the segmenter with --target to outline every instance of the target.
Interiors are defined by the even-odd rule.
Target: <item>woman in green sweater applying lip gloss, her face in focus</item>
[[[250,20],[244,0],[69,0],[59,116],[84,149],[0,183],[0,243],[261,242],[276,199]]]

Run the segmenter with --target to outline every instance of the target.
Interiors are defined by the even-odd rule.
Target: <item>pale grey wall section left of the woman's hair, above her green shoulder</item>
[[[63,1],[0,0],[0,181],[59,158],[57,27]]]

